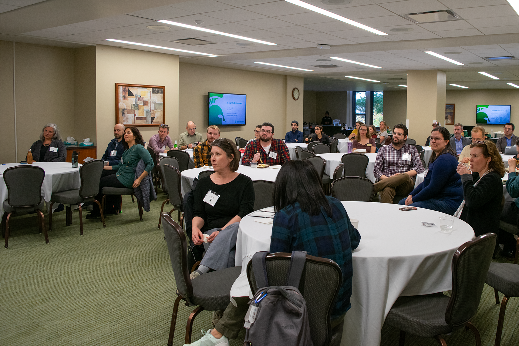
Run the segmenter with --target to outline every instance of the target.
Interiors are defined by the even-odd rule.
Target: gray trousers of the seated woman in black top
[[[211,243],[203,243],[203,247],[206,249],[206,255],[203,256],[200,262],[201,266],[206,266],[214,270],[234,267],[236,236],[239,226],[240,223],[236,222],[222,230],[220,230],[220,228],[214,228],[204,232],[210,236],[212,232],[220,230],[218,236],[216,236]]]

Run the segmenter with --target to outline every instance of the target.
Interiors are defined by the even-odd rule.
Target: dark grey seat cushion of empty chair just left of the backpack
[[[229,292],[241,273],[241,266],[212,271],[191,280],[191,301],[206,310],[225,310],[229,305]]]

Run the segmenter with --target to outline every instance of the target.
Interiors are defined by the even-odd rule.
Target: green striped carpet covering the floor
[[[164,200],[159,191],[140,222],[136,204],[123,196],[123,213],[108,216],[106,228],[99,220],[84,219],[82,237],[77,212],[71,226],[65,226],[64,212],[53,214],[49,244],[38,234],[36,216],[12,218],[9,248],[0,250],[0,345],[166,345],[176,294],[163,229],[157,229]],[[519,343],[518,310],[519,299],[511,298],[503,346]],[[184,343],[190,311],[180,306],[175,346]],[[486,286],[473,321],[485,346],[494,344],[498,313],[493,290]],[[211,327],[211,316],[205,311],[197,316],[193,340],[200,329]],[[240,338],[231,345],[241,345]],[[463,329],[446,341],[475,344]],[[409,346],[435,344],[407,336]],[[398,345],[398,331],[385,326],[381,345]]]

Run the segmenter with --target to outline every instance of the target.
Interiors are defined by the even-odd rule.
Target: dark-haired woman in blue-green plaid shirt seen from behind
[[[272,225],[270,253],[302,250],[335,261],[343,271],[343,285],[332,310],[332,328],[351,308],[351,251],[360,234],[351,225],[344,205],[325,196],[321,179],[306,160],[286,162],[274,186],[276,215]]]

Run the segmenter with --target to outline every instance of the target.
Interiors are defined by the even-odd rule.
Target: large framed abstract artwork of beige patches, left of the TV
[[[159,126],[166,123],[164,86],[115,84],[115,123]]]

